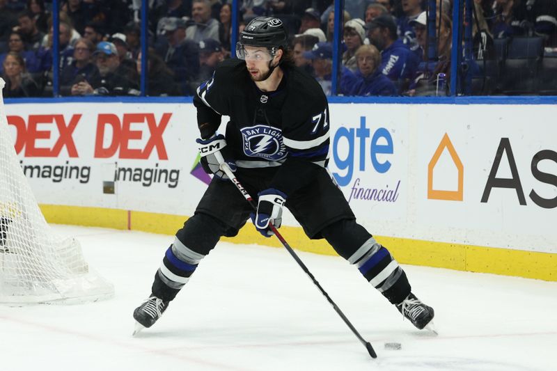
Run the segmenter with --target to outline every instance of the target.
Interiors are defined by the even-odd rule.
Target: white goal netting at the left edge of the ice
[[[0,303],[81,302],[111,297],[74,238],[54,235],[13,148],[0,79]]]

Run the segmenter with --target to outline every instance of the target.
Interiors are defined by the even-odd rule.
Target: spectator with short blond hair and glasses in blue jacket
[[[373,45],[362,45],[356,51],[358,70],[346,95],[397,95],[393,81],[379,70],[381,54]]]

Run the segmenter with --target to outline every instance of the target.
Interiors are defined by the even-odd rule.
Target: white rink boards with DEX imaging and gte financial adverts
[[[557,107],[329,111],[329,171],[373,233],[557,252]],[[192,104],[8,104],[6,113],[39,203],[187,216],[210,182]],[[290,215],[283,223],[296,225]]]

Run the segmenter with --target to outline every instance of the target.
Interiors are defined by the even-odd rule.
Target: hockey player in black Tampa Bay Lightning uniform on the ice
[[[237,59],[223,61],[197,89],[202,164],[214,174],[194,216],[178,230],[155,274],[151,294],[136,310],[136,331],[157,322],[199,263],[222,236],[232,237],[251,207],[219,168],[220,152],[251,195],[251,219],[265,237],[269,222],[281,226],[288,207],[311,239],[335,251],[398,308],[418,329],[433,309],[411,292],[405,271],[391,253],[356,223],[342,191],[325,166],[329,159],[329,107],[315,79],[295,67],[281,20],[256,17],[240,35]],[[226,137],[217,134],[230,116]]]

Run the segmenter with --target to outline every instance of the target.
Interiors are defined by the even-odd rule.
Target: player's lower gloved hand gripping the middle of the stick
[[[273,231],[269,228],[269,222],[273,223],[275,228],[281,227],[286,195],[278,191],[278,189],[269,188],[265,189],[265,191],[260,191],[258,196],[257,213],[251,213],[251,221],[253,221],[258,232],[265,237],[271,237]]]

